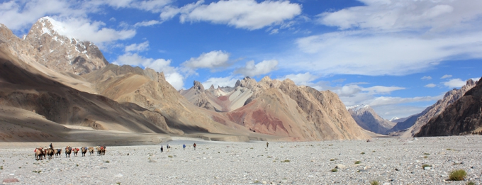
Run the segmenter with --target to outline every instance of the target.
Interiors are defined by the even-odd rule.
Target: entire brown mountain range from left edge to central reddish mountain
[[[109,65],[94,43],[56,25],[40,18],[25,39],[0,26],[0,140],[89,140],[73,133],[92,131],[71,126],[208,140],[370,138],[331,91],[246,77],[234,87],[194,82],[179,92],[162,72]]]

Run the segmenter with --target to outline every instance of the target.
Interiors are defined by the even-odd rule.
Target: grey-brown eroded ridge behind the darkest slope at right
[[[460,89],[452,89],[451,91],[448,91],[444,95],[443,99],[426,108],[425,111],[422,112],[422,115],[417,118],[412,128],[408,131],[410,131],[411,135],[419,133],[420,129],[424,125],[426,125],[430,121],[430,119],[435,118],[440,113],[444,112],[448,106],[450,106],[452,103],[456,102],[458,99],[464,96],[464,94],[466,94],[467,91],[471,90],[474,86],[476,86],[476,84],[477,82],[469,79],[467,80],[466,84]]]

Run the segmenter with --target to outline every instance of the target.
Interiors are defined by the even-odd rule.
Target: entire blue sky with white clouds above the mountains
[[[291,79],[383,118],[482,77],[480,0],[0,1],[19,37],[49,16],[108,62],[164,72],[176,89]]]

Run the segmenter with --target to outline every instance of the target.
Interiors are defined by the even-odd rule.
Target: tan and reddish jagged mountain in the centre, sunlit
[[[235,87],[202,91],[200,83],[181,92],[187,99],[207,97],[230,121],[253,133],[279,135],[291,140],[349,140],[369,138],[349,117],[343,103],[331,91],[296,86],[289,79],[264,77],[238,80]],[[199,101],[194,101],[199,102]],[[193,101],[191,101],[193,103]]]

